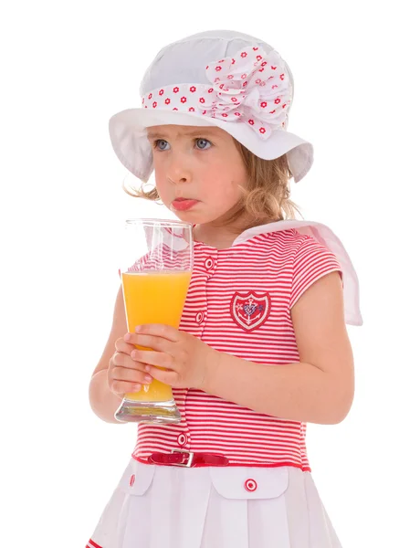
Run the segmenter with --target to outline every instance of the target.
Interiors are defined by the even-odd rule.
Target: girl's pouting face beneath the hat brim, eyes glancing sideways
[[[163,204],[181,220],[199,225],[223,223],[241,196],[247,173],[233,137],[218,127],[160,125],[147,129],[155,182]],[[198,200],[176,210],[179,197]]]

